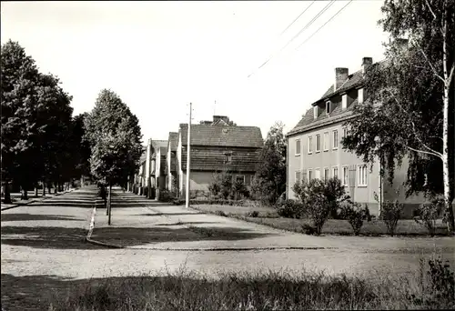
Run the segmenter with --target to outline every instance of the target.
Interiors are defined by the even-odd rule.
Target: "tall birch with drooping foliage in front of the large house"
[[[382,11],[379,24],[392,39],[387,58],[367,71],[369,101],[355,107],[358,116],[347,122],[342,145],[365,162],[378,158],[389,182],[408,156],[407,195],[443,194],[452,232],[455,1],[387,0]],[[405,47],[399,39],[404,35]]]

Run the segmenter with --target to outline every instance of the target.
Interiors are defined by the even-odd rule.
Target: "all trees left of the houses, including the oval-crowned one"
[[[57,191],[81,176],[90,176],[105,192],[126,186],[138,168],[142,135],[120,97],[104,89],[90,113],[73,117],[72,97],[56,76],[39,72],[22,46],[9,40],[1,58],[4,202],[11,202],[11,182],[22,188],[23,199],[38,182],[45,195],[45,185]]]

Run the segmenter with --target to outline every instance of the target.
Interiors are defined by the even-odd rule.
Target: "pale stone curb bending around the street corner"
[[[147,207],[150,209],[150,207]],[[152,210],[153,211],[153,210]],[[154,211],[156,212],[156,211]],[[325,250],[337,249],[337,247],[319,247],[319,246],[271,246],[271,247],[194,247],[194,248],[173,248],[173,247],[135,247],[135,246],[119,246],[106,242],[96,241],[91,238],[93,229],[95,228],[96,216],[96,201],[93,207],[92,217],[90,219],[89,229],[86,235],[86,242],[96,246],[105,246],[115,249],[134,249],[134,250],[151,250],[151,251],[175,251],[175,252],[250,252],[250,251],[268,251],[268,250]]]

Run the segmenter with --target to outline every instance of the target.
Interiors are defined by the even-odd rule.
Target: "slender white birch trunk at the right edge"
[[[444,3],[444,17],[443,17],[443,30],[442,30],[442,67],[444,71],[444,116],[442,122],[442,177],[444,181],[444,204],[446,209],[446,220],[447,230],[449,233],[453,233],[454,230],[454,219],[453,209],[450,202],[450,176],[449,176],[449,87],[451,83],[452,75],[449,74],[448,59],[447,59],[447,33],[448,33],[448,8],[447,2]],[[453,65],[452,65],[453,66]],[[451,68],[453,70],[453,68]]]

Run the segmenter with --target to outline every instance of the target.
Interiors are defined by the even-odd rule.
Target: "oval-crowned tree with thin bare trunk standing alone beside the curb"
[[[85,119],[85,139],[90,144],[90,171],[98,183],[124,185],[138,168],[142,135],[136,115],[116,93],[102,90],[95,108]],[[110,199],[108,199],[110,224]]]

